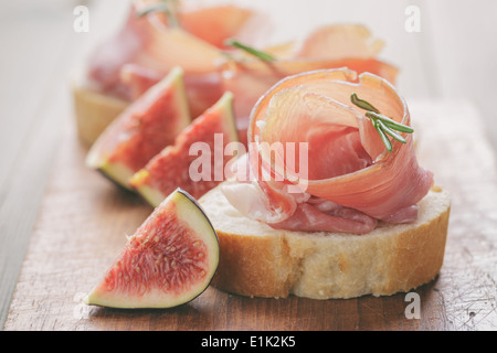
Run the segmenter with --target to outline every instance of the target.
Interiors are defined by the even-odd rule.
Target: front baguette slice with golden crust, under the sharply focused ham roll
[[[241,215],[220,186],[200,199],[220,242],[212,285],[266,298],[389,296],[433,280],[445,252],[450,194],[433,188],[419,218],[380,224],[367,235],[273,229]]]

